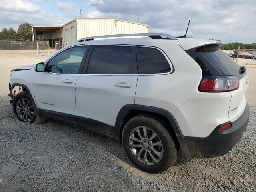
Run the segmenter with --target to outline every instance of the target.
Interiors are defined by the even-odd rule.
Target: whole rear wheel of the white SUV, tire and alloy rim
[[[141,170],[160,173],[177,160],[178,144],[158,118],[138,115],[131,118],[122,133],[122,143],[128,158]]]

